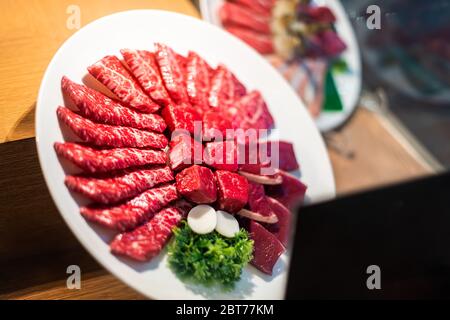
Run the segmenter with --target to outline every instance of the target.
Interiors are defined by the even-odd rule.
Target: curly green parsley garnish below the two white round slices
[[[183,280],[232,289],[252,259],[253,240],[244,229],[233,238],[216,231],[199,235],[184,221],[174,234],[169,245],[169,266]]]

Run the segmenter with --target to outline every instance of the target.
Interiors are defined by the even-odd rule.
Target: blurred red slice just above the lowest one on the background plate
[[[219,17],[225,25],[237,25],[253,31],[270,35],[270,17],[255,14],[248,8],[225,2],[219,10]]]

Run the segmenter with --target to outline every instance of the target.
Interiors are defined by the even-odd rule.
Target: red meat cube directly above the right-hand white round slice
[[[219,209],[236,213],[248,201],[248,182],[243,176],[229,171],[217,170],[215,172],[218,187]]]

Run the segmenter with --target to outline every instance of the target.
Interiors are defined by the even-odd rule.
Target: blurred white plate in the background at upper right
[[[347,50],[341,55],[341,58],[347,63],[349,71],[333,74],[343,110],[322,112],[315,119],[319,130],[327,132],[341,126],[357,106],[362,82],[361,58],[355,33],[341,3],[338,0],[316,0],[314,2],[326,5],[333,11],[336,16],[336,31],[347,44]],[[203,19],[222,27],[217,12],[223,3],[224,0],[201,0],[200,9]]]

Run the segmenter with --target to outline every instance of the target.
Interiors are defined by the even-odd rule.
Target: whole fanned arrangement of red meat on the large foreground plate
[[[194,206],[208,204],[241,221],[254,244],[251,263],[271,274],[288,243],[289,208],[306,187],[286,172],[299,168],[291,143],[226,135],[274,126],[263,95],[192,51],[184,56],[156,43],[154,51],[121,54],[87,68],[108,96],[61,79],[66,106],[57,106],[57,116],[78,141],[54,147],[82,171],[65,179],[71,192],[91,201],[80,214],[118,232],[113,254],[149,261]],[[266,172],[267,161],[242,162],[252,143],[271,159],[279,151],[279,166]]]

